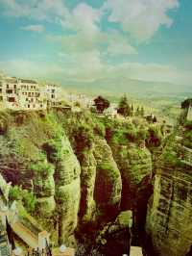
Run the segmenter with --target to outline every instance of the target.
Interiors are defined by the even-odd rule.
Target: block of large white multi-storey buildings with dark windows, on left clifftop
[[[40,110],[58,106],[60,87],[41,86],[34,80],[0,77],[0,107],[14,110]]]

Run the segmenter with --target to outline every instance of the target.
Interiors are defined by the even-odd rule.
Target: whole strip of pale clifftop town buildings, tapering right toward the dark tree
[[[65,92],[60,86],[0,75],[0,108],[12,110],[46,110],[50,107],[78,105],[89,108],[93,101],[84,94]]]

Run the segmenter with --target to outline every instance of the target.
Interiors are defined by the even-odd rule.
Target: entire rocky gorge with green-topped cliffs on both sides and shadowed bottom
[[[177,127],[64,108],[0,113],[0,172],[16,200],[76,255],[190,255],[192,144]]]

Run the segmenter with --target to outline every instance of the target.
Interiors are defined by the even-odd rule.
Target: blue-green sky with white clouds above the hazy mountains
[[[0,70],[192,85],[191,0],[0,0]]]

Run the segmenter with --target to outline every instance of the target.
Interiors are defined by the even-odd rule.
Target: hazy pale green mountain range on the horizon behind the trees
[[[131,97],[177,97],[184,98],[192,94],[192,86],[175,85],[165,82],[146,82],[124,77],[99,79],[94,81],[62,81],[67,90],[77,90],[88,94],[120,96],[123,93]]]

